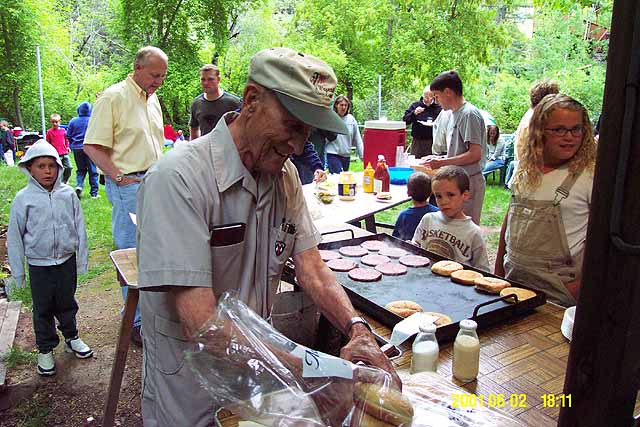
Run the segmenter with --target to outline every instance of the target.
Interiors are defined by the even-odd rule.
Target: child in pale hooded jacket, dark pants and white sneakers
[[[87,271],[87,233],[80,200],[61,182],[62,162],[53,146],[39,140],[18,166],[29,182],[11,204],[9,265],[17,286],[24,287],[27,260],[39,350],[37,372],[51,376],[56,373],[53,349],[60,342],[54,318],[67,352],[81,359],[93,356],[91,348],[78,338],[74,297],[77,274]]]

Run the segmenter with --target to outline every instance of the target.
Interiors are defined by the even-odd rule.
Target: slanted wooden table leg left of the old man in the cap
[[[107,400],[104,405],[102,427],[113,427],[115,421],[116,408],[118,407],[118,399],[120,398],[120,387],[122,386],[122,375],[124,374],[124,367],[127,362],[127,352],[129,351],[133,318],[136,313],[136,307],[138,306],[138,298],[138,289],[130,287],[124,306],[124,316],[122,316],[122,322],[120,323],[120,334],[116,345],[113,367],[111,368],[111,379],[109,380]]]

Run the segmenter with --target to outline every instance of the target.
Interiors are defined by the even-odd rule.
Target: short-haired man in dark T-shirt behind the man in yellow
[[[200,84],[203,93],[191,103],[189,140],[206,135],[216,126],[220,117],[240,108],[241,100],[220,87],[220,70],[213,64],[200,68]]]

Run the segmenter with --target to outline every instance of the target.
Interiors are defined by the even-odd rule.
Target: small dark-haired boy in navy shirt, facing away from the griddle
[[[431,178],[424,172],[414,172],[409,176],[407,195],[411,197],[413,206],[400,212],[393,228],[393,237],[402,240],[411,240],[422,217],[439,210],[429,203]]]

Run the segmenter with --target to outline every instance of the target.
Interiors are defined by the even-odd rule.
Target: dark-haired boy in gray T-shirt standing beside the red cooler
[[[431,91],[443,110],[451,110],[447,123],[447,155],[431,157],[425,165],[432,169],[461,166],[469,174],[471,197],[464,203],[464,213],[480,225],[485,181],[482,169],[486,162],[487,136],[480,110],[462,96],[462,80],[457,71],[440,73],[431,82]]]

